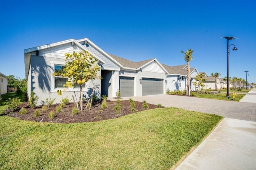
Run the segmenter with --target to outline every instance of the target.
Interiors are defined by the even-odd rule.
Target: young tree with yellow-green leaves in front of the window
[[[88,51],[65,53],[65,56],[66,63],[63,71],[55,72],[53,75],[68,78],[64,87],[71,88],[75,83],[80,85],[80,107],[83,110],[83,84],[89,80],[101,79],[101,76],[97,76],[97,71],[100,71],[100,67],[96,64],[98,60]],[[61,95],[62,91],[57,91],[57,93]]]

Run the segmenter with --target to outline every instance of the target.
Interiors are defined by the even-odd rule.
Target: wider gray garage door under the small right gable
[[[163,81],[164,79],[142,78],[142,96],[163,94]]]

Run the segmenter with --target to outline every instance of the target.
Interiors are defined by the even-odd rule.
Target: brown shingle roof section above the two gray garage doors
[[[108,55],[110,55],[118,63],[122,64],[124,67],[130,67],[130,68],[134,68],[134,69],[137,69],[137,68],[141,67],[142,65],[144,65],[144,64],[153,60],[153,59],[147,59],[147,60],[144,60],[144,61],[134,62],[134,61],[130,61],[128,59],[124,59],[122,57],[118,57],[116,55],[112,55],[112,54],[108,54]]]

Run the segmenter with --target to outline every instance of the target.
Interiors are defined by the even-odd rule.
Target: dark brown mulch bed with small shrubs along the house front
[[[101,103],[94,103],[91,107],[91,110],[83,110],[79,111],[77,115],[72,114],[72,109],[74,107],[74,103],[69,103],[66,105],[60,113],[56,113],[55,109],[59,105],[54,105],[48,107],[47,111],[42,111],[42,106],[35,107],[32,109],[29,107],[28,102],[24,102],[22,105],[18,106],[18,109],[13,113],[9,113],[6,116],[14,117],[17,119],[27,120],[27,121],[37,121],[37,122],[54,122],[54,123],[82,123],[82,122],[95,122],[95,121],[102,121],[108,119],[115,119],[117,117],[122,117],[124,115],[128,115],[131,113],[135,113],[137,111],[143,111],[147,109],[142,108],[142,102],[134,101],[136,104],[136,111],[130,111],[130,103],[129,101],[121,101],[120,113],[117,114],[114,107],[117,105],[116,101],[108,101],[107,108],[102,109]],[[84,104],[84,107],[86,104]],[[27,110],[25,115],[19,115],[19,110],[24,107]],[[148,104],[148,109],[158,108],[157,105]],[[40,110],[40,116],[34,117],[34,111],[36,109]],[[50,111],[55,112],[54,119],[49,119],[48,114]],[[10,112],[10,111],[9,111]]]

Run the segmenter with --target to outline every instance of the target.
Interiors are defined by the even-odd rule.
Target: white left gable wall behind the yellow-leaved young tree
[[[54,103],[60,103],[61,99],[65,97],[68,97],[73,102],[72,95],[74,94],[79,100],[80,88],[73,87],[62,92],[62,95],[57,95],[57,90],[63,91],[64,87],[56,89],[54,87],[54,65],[65,64],[64,53],[72,53],[74,49],[79,51],[75,46],[71,47],[71,44],[69,46],[61,45],[60,48],[53,47],[48,50],[40,50],[39,56],[31,55],[31,66],[28,76],[28,97],[30,97],[30,92],[33,91],[34,95],[39,97],[37,105],[42,105],[45,99],[49,97],[56,98]],[[98,71],[98,75],[101,75],[101,70]],[[92,81],[87,82],[86,86],[83,87],[84,97],[89,97],[94,84],[96,85],[96,94],[99,97],[101,96],[101,80],[95,80],[93,83]]]

